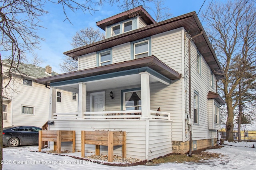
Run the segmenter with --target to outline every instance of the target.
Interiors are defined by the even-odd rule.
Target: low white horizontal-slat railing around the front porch
[[[54,113],[54,119],[79,119],[78,112]],[[140,119],[141,110],[84,112],[84,119]],[[150,110],[150,119],[170,120],[170,113]]]

